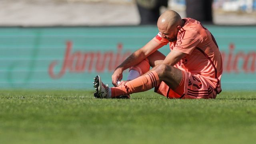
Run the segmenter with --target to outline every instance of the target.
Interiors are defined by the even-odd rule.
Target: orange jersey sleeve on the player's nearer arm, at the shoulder
[[[197,33],[187,34],[187,36],[185,34],[185,38],[177,40],[173,50],[183,52],[185,54],[191,54],[194,48],[196,48],[200,43],[200,39],[196,38],[197,36],[199,36]]]

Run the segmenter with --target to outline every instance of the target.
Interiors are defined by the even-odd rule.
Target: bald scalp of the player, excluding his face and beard
[[[157,26],[158,27],[166,27],[171,28],[173,26],[182,25],[182,19],[180,15],[173,10],[166,10],[161,16],[158,18]]]

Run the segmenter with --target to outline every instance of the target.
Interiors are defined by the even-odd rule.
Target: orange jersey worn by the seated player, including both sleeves
[[[162,45],[169,43],[171,50],[186,53],[187,55],[174,66],[192,74],[200,74],[217,93],[220,93],[222,57],[214,37],[197,20],[192,18],[183,20],[184,26],[179,30],[175,42],[168,42],[161,37],[160,32],[153,40]]]

